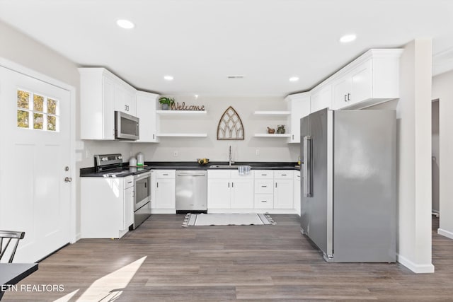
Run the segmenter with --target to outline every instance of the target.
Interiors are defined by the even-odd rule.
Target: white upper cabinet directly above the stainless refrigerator
[[[332,108],[360,109],[399,98],[402,50],[369,50],[338,71]]]

